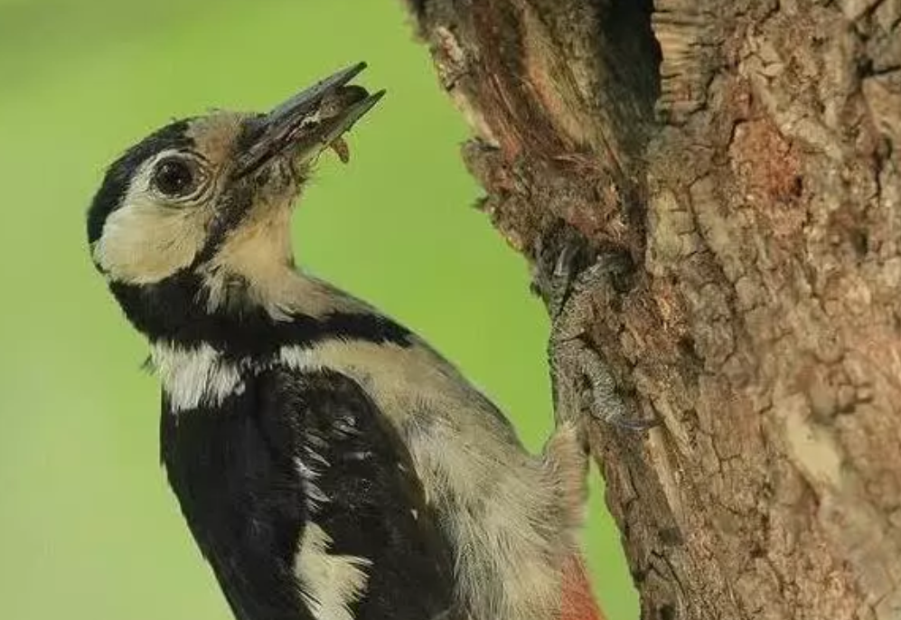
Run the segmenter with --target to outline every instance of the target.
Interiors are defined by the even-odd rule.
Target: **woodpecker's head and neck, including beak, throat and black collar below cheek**
[[[332,147],[346,161],[343,134],[384,94],[352,85],[364,68],[266,114],[175,121],[110,165],[88,211],[90,253],[139,331],[195,343],[244,333],[252,348],[273,320],[342,310],[295,271],[290,219],[317,155]]]

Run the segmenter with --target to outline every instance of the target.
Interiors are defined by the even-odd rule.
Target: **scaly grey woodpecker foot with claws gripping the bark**
[[[549,361],[558,423],[567,419],[578,423],[587,409],[591,418],[616,427],[644,430],[656,426],[656,420],[640,419],[628,407],[607,363],[585,338],[593,293],[623,290],[634,269],[631,259],[623,251],[605,251],[593,265],[579,270],[586,260],[585,250],[577,242],[564,240],[556,257],[542,257],[547,254],[543,250],[537,252],[535,287],[545,297],[553,322]]]

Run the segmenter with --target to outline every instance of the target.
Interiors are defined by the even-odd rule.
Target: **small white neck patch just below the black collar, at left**
[[[239,366],[223,360],[209,344],[154,343],[150,358],[175,412],[221,405],[244,391]]]

